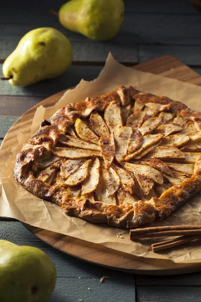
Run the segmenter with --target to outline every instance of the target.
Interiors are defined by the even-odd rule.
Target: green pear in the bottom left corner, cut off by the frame
[[[44,252],[0,240],[0,301],[46,302],[55,283],[55,266]]]

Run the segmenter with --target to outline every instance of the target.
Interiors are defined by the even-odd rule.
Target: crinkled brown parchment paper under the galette
[[[135,256],[169,259],[175,263],[201,262],[201,241],[191,242],[177,249],[153,253],[150,246],[157,240],[144,239],[132,242],[129,239],[129,230],[92,224],[77,217],[67,216],[57,205],[37,198],[13,178],[17,153],[21,151],[23,142],[36,132],[43,119],[49,119],[56,110],[69,102],[82,101],[87,96],[95,97],[117,89],[120,85],[133,85],[141,91],[167,96],[201,111],[201,87],[134,70],[121,65],[112,55],[109,55],[104,69],[96,80],[92,82],[81,80],[77,87],[67,91],[55,106],[46,109],[39,107],[30,125],[30,134],[25,135],[23,129],[18,134],[18,145],[13,147],[13,156],[5,163],[0,174],[0,215],[17,218],[42,229],[98,243]],[[151,225],[201,224],[200,211],[201,195],[198,193],[167,219],[154,221]],[[123,238],[118,238],[117,233],[121,233]]]

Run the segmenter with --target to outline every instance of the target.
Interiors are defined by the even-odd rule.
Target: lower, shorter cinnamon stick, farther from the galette
[[[189,241],[193,241],[195,239],[200,239],[201,237],[198,236],[182,236],[179,238],[175,238],[172,240],[165,240],[162,242],[154,243],[151,245],[152,252],[159,252],[163,250],[167,250],[173,247],[180,246],[182,244],[185,244]]]

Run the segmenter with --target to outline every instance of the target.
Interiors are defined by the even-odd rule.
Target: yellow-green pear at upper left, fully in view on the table
[[[62,74],[72,62],[69,40],[58,30],[42,27],[28,32],[3,65],[3,80],[28,86]]]

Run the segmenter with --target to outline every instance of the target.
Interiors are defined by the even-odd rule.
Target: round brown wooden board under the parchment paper
[[[169,78],[180,79],[190,83],[201,84],[201,77],[182,64],[180,61],[171,56],[164,56],[158,59],[148,61],[146,63],[135,66],[134,68],[154,72],[165,75]],[[29,132],[32,118],[38,106],[51,106],[55,104],[61,97],[63,92],[51,96],[50,98],[37,104],[28,110],[10,129],[6,135],[1,147],[1,165],[5,163],[10,155],[11,144],[16,143],[17,133],[20,129],[24,129],[24,133]],[[9,122],[9,119],[7,119]],[[130,272],[140,272],[146,274],[174,274],[182,272],[192,272],[200,270],[197,264],[174,264],[171,261],[151,260],[145,258],[134,257],[126,253],[120,253],[101,245],[91,244],[82,240],[64,236],[54,232],[49,232],[39,228],[34,228],[28,224],[24,224],[37,237],[47,242],[51,246],[59,249],[67,254],[73,255],[79,259],[92,262],[97,265],[112,267]],[[111,255],[113,255],[111,257]]]

